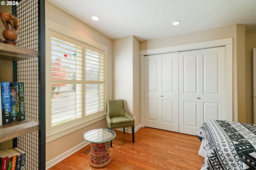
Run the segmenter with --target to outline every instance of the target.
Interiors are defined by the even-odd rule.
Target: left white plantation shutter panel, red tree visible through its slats
[[[82,47],[52,37],[52,126],[82,118]]]

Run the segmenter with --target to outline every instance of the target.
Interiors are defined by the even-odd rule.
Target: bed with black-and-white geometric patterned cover
[[[256,125],[209,120],[196,136],[202,141],[201,170],[256,170]]]

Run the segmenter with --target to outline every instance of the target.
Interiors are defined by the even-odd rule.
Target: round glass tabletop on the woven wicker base
[[[84,133],[84,139],[92,143],[104,143],[116,137],[116,132],[110,129],[93,129]]]

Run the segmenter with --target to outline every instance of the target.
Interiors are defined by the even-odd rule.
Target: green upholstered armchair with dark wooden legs
[[[124,108],[124,100],[108,100],[106,117],[108,129],[132,127],[132,142],[134,143],[134,119]],[[125,130],[124,130],[125,133]],[[112,147],[112,141],[110,142]]]

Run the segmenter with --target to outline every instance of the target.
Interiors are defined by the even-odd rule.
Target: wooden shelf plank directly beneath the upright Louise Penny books
[[[30,132],[38,131],[38,125],[38,122],[27,119],[2,125],[0,126],[0,143]]]

